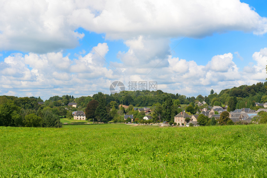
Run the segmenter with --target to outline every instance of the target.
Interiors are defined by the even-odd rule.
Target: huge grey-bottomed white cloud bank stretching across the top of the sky
[[[123,39],[130,48],[142,48],[143,39],[153,43],[229,30],[267,32],[266,17],[239,0],[4,0],[0,16],[0,50],[34,53],[75,48],[84,36],[76,31],[80,27],[104,33],[107,39]]]

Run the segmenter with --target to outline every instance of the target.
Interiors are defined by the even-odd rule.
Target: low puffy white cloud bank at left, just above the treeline
[[[102,57],[108,52],[106,43],[99,43],[94,49]],[[0,66],[1,93],[9,95],[88,95],[88,91],[97,92],[117,78],[93,50],[73,60],[62,52],[13,53],[0,62]]]

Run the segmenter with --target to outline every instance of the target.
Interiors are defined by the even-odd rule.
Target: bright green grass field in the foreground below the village
[[[267,177],[267,125],[0,127],[0,177]]]

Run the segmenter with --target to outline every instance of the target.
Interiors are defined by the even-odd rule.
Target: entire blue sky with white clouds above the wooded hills
[[[164,92],[196,97],[264,82],[266,7],[261,0],[4,1],[0,95],[109,94],[118,80],[157,81]]]

